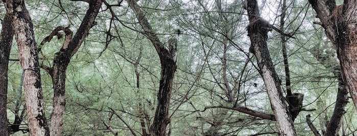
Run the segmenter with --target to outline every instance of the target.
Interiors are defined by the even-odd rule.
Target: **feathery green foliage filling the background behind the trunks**
[[[117,4],[117,1],[106,2]],[[296,39],[287,41],[292,90],[293,93],[305,95],[303,108],[316,109],[302,111],[295,120],[295,129],[298,135],[312,135],[305,116],[311,114],[317,129],[325,129],[324,124],[334,110],[338,86],[331,67],[325,67],[313,54],[322,51],[332,55],[335,52],[323,35],[323,29],[312,23],[315,13],[308,7],[307,1],[288,2],[291,5],[285,24],[289,25],[285,31],[297,30]],[[38,44],[60,25],[69,25],[75,33],[88,7],[84,2],[73,1],[61,1],[61,4],[58,1],[26,3]],[[233,107],[234,104],[229,103],[227,98],[224,83],[224,78],[227,78],[237,106],[272,114],[256,60],[249,53],[248,21],[241,1],[139,1],[139,5],[165,46],[169,38],[178,39],[178,69],[170,103],[171,124],[167,130],[171,135],[203,135],[215,130],[229,135],[276,135],[275,121],[230,109],[209,109],[213,106]],[[270,10],[277,11],[278,3],[271,5],[275,9]],[[3,7],[0,6],[0,18],[5,14]],[[62,135],[112,135],[105,123],[118,135],[133,135],[130,129],[140,135],[140,119],[144,118],[147,131],[153,121],[160,82],[159,57],[151,42],[142,35],[141,26],[126,1],[120,7],[111,8],[112,13],[108,7],[102,6],[96,19],[97,25],[91,28],[86,41],[68,66]],[[280,14],[269,13],[267,9],[262,12],[273,17],[269,22],[274,22]],[[177,29],[181,31],[179,36]],[[285,89],[278,35],[275,31],[269,34],[268,46]],[[112,40],[108,41],[110,38]],[[42,54],[39,55],[41,64],[52,65],[63,41],[54,38],[42,46]],[[17,46],[13,45],[10,58],[17,58],[17,50]],[[223,64],[224,55],[226,65]],[[139,56],[137,72],[140,87],[137,88],[134,64]],[[337,60],[337,57],[334,58]],[[227,67],[226,76],[223,74],[224,66]],[[18,61],[11,61],[8,91],[10,122],[14,119],[11,112],[18,98],[21,72]],[[41,74],[46,116],[50,118],[52,80],[44,70]],[[21,100],[24,100],[23,95]],[[346,111],[340,133],[351,134],[356,129],[352,123],[356,120],[353,104],[348,104]]]

